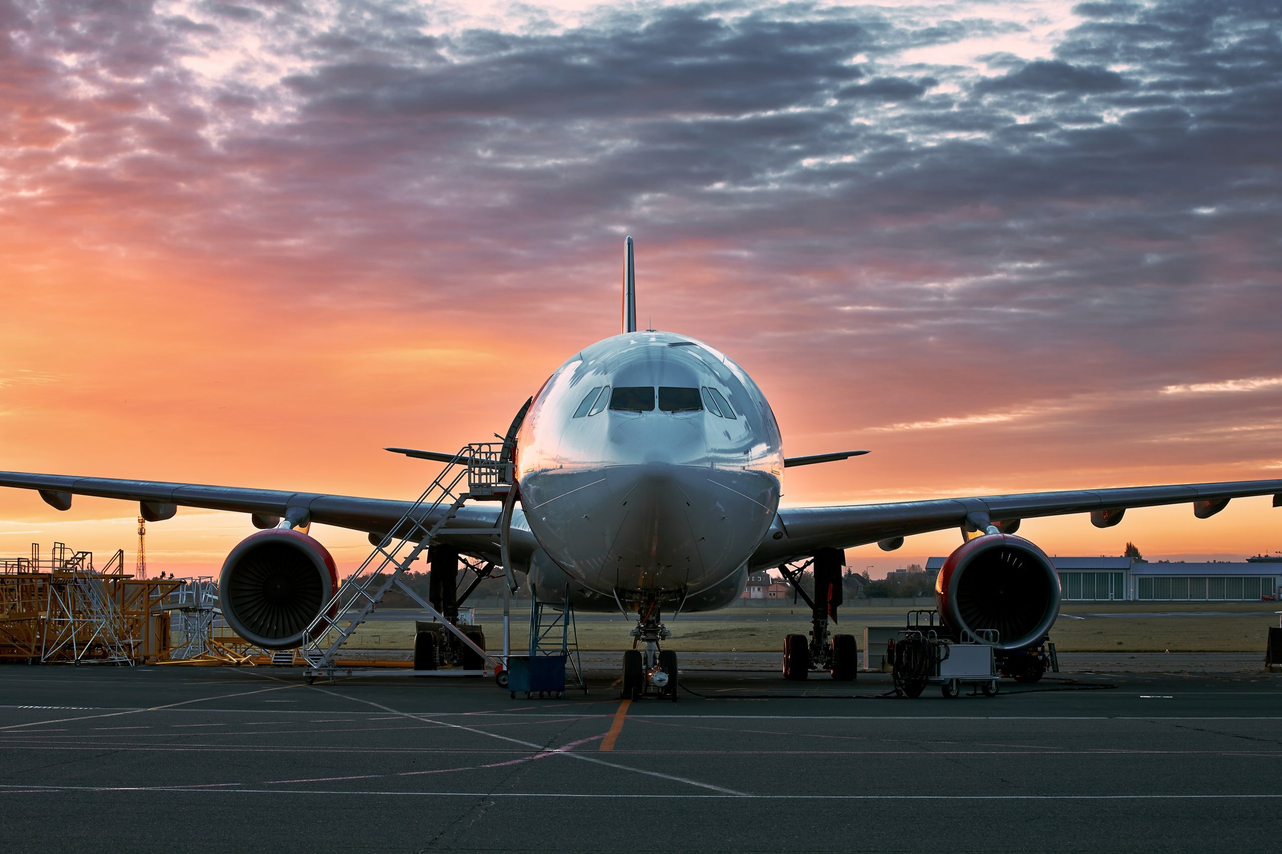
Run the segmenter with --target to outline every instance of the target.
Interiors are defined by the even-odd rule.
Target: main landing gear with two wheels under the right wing
[[[810,671],[828,671],[842,682],[854,681],[859,675],[859,644],[854,635],[835,635],[828,630],[829,620],[836,622],[837,606],[841,604],[841,567],[845,553],[837,548],[824,548],[815,552],[814,598],[800,585],[800,570],[781,566],[779,571],[792,589],[810,606],[810,639],[805,635],[788,635],[783,639],[783,679],[803,680]]]

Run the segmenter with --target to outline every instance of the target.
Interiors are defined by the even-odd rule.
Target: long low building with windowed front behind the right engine
[[[942,557],[926,562],[938,575]],[[1133,557],[1053,557],[1064,602],[1259,602],[1282,588],[1282,558],[1150,563]]]

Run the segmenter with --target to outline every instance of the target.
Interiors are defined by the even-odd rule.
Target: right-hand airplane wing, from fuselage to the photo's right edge
[[[1111,528],[1122,521],[1129,507],[1191,503],[1194,515],[1206,519],[1223,510],[1229,499],[1251,495],[1273,495],[1273,506],[1282,507],[1282,480],[1035,492],[846,507],[781,507],[772,533],[753,554],[750,565],[773,567],[809,556],[817,548],[882,543],[891,551],[899,547],[896,540],[900,538],[947,528],[983,530],[992,524],[1013,534],[1020,520],[1036,516],[1091,513],[1094,525]]]

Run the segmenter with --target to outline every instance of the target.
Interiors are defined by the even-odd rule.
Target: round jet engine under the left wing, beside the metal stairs
[[[292,649],[337,589],[338,568],[324,545],[303,531],[276,528],[250,534],[227,556],[218,600],[245,640]]]

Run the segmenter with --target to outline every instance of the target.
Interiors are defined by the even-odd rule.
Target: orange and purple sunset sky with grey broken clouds
[[[0,0],[0,469],[413,498],[382,448],[503,433],[618,332],[632,234],[641,319],[786,453],[872,451],[785,503],[1279,478],[1279,40],[1274,1]],[[1240,560],[1278,512],[1020,534]],[[135,513],[0,490],[0,554],[132,562]],[[251,531],[179,511],[151,571]]]

